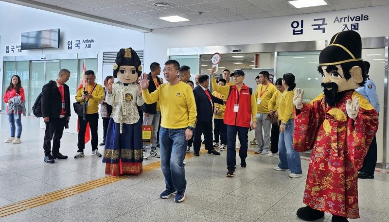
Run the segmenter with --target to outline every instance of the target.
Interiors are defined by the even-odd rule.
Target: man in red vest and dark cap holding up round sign
[[[257,126],[255,115],[257,106],[252,88],[243,83],[245,72],[235,70],[231,73],[234,85],[219,86],[216,83],[214,68],[211,70],[212,88],[221,94],[228,95],[224,123],[227,125],[227,176],[233,177],[236,165],[236,134],[240,141],[239,156],[240,166],[246,168],[246,157],[248,149],[248,129],[252,130]]]

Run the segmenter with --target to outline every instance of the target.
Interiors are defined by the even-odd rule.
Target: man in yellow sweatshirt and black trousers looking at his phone
[[[101,157],[101,154],[97,150],[97,144],[99,137],[97,136],[97,127],[99,126],[99,102],[103,99],[104,91],[103,86],[95,83],[94,71],[87,70],[84,75],[86,85],[84,88],[77,90],[76,101],[85,103],[85,120],[78,116],[78,151],[74,158],[78,159],[84,156],[85,148],[85,132],[87,129],[87,123],[89,123],[92,139],[90,141],[92,145],[92,156]],[[87,93],[84,93],[87,92]]]

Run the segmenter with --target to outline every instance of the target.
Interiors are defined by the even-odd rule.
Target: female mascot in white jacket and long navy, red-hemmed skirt
[[[103,163],[106,174],[140,174],[142,171],[142,129],[138,106],[144,101],[140,86],[141,60],[131,48],[121,49],[113,65],[118,82],[106,87],[106,103],[112,105]]]

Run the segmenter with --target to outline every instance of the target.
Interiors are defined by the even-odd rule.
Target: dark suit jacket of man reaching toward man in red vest
[[[209,89],[208,93],[211,95],[211,99],[213,103],[219,103],[223,104],[223,100],[214,97],[211,94],[211,91]],[[196,109],[197,109],[197,121],[212,121],[213,112],[215,109],[215,106],[212,108],[211,101],[208,99],[207,94],[205,94],[205,91],[200,85],[197,85],[193,89],[193,94],[195,95],[195,102],[196,102]]]

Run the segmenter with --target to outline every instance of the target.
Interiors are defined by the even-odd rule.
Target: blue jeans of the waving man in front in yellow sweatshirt
[[[160,161],[166,189],[183,192],[186,188],[184,159],[186,155],[185,130],[167,129],[159,130]]]

